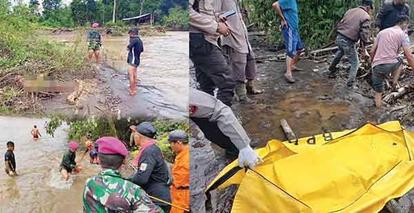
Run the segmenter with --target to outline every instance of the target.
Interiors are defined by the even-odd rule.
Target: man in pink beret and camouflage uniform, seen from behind
[[[98,162],[101,172],[86,180],[83,188],[83,212],[163,212],[144,190],[121,176],[128,151],[114,137],[102,137]]]

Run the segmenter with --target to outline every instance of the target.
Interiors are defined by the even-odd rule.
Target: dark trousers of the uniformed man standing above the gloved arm
[[[190,36],[190,59],[200,90],[214,96],[215,88],[219,88],[217,99],[231,106],[235,88],[231,68],[216,45],[200,38]]]

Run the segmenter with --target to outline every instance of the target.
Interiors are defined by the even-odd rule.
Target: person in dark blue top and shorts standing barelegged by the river
[[[137,92],[137,67],[139,66],[139,57],[144,52],[144,45],[138,37],[138,28],[132,28],[128,31],[130,43],[128,45],[128,75],[130,78],[130,88],[128,92],[134,95]]]

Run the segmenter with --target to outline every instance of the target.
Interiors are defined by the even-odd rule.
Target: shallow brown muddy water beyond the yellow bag
[[[322,132],[357,128],[366,122],[382,123],[387,114],[377,112],[373,99],[355,89],[346,91],[344,79],[324,76],[326,65],[299,61],[302,72],[293,72],[295,84],[284,81],[286,63],[267,61],[257,63],[257,85],[266,92],[250,98],[256,105],[236,104],[233,109],[253,139],[253,145],[262,147],[270,139],[286,140],[280,120],[286,119],[297,137]],[[358,87],[357,83],[355,86]],[[373,93],[373,91],[371,91]],[[347,96],[353,97],[352,100]]]

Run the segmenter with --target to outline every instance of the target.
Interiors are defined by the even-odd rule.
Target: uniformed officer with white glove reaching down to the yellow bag
[[[206,138],[226,150],[226,156],[238,156],[239,167],[253,169],[262,159],[250,147],[250,138],[233,111],[205,92],[190,89],[190,119]]]

